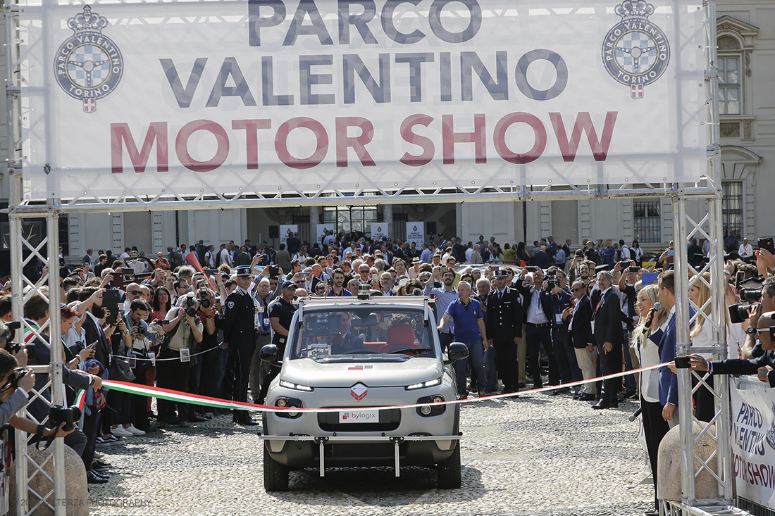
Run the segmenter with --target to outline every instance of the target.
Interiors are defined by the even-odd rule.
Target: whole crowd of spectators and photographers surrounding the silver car
[[[694,247],[702,253],[696,242],[687,243],[687,249]],[[89,249],[77,267],[67,267],[60,256],[60,324],[50,317],[45,287],[29,295],[23,314],[26,346],[13,356],[0,351],[0,373],[5,374],[5,392],[15,388],[26,394],[29,378],[13,381],[12,366],[46,364],[52,343],[62,346],[68,401],[74,401],[78,389],[87,394],[81,425],[60,432],[83,459],[88,482],[105,483],[109,465],[96,459],[98,449],[227,411],[159,399],[153,413],[149,397],[108,390],[103,379],[263,404],[277,368],[263,363],[257,351],[269,343],[284,347],[299,298],[432,295],[443,348],[463,342],[469,349],[469,358],[454,364],[460,398],[516,393],[529,383],[556,386],[551,394],[572,395],[594,409],[639,398],[656,480],[656,450],[677,422],[675,373],[663,368],[573,389],[563,384],[673,360],[673,307],[680,293],[670,270],[671,249],[672,243],[654,257],[664,269],[656,283],[643,279],[649,271],[641,267],[645,255],[638,242],[627,246],[623,240],[574,246],[549,236],[527,249],[524,243],[501,246],[484,236],[463,244],[460,238],[439,235],[438,242],[418,246],[329,232],[312,246],[292,235],[277,250],[250,240],[215,249],[200,240],[194,246],[168,246],[167,253],[159,251],[153,259],[131,247],[119,256],[109,250],[95,256]],[[693,265],[703,263],[697,254],[687,253]],[[759,335],[769,336],[757,335],[756,328],[773,324],[770,270],[775,257],[766,249],[752,256],[756,264],[736,254],[725,262],[730,279],[726,301],[739,314],[726,325],[732,360],[714,363],[707,355],[693,355],[694,369],[727,373],[750,359],[769,360],[762,366],[770,371],[775,365],[773,353],[766,351],[771,343],[762,339],[765,351],[756,345]],[[687,293],[705,313],[711,287],[706,272]],[[757,302],[741,306],[741,297]],[[656,309],[657,302],[661,308]],[[708,345],[711,325],[694,311],[692,316],[693,346]],[[8,295],[0,298],[0,318],[12,320]],[[3,332],[10,335],[0,326]],[[2,370],[5,363],[8,370]],[[706,381],[712,385],[711,378]],[[775,375],[764,374],[768,379],[773,384]],[[34,385],[42,387],[43,380]],[[710,421],[713,395],[701,388],[695,398],[697,417]],[[37,401],[29,407],[39,421],[47,415],[41,405]],[[232,411],[232,421],[258,424],[248,411]],[[34,429],[41,439],[56,430]]]

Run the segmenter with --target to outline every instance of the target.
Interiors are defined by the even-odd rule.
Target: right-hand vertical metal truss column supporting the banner
[[[712,187],[713,192],[708,196],[708,215],[699,223],[687,218],[684,199],[679,194],[673,200],[676,216],[675,243],[676,243],[676,322],[677,322],[677,346],[676,355],[684,356],[690,352],[689,339],[690,322],[694,324],[709,324],[712,328],[711,346],[697,349],[697,353],[712,353],[714,359],[727,357],[726,343],[726,303],[725,286],[727,280],[724,274],[724,247],[723,247],[723,220],[722,220],[722,173],[721,173],[721,146],[718,125],[718,68],[716,66],[716,9],[715,0],[704,2],[704,57],[705,57],[705,119],[707,138],[708,173],[706,181]],[[704,232],[702,226],[708,224],[708,232]],[[687,232],[687,223],[694,225],[694,229]],[[695,233],[704,235],[710,243],[708,252],[708,265],[701,271],[694,271],[688,264],[686,257],[686,242]],[[688,289],[695,284],[708,284],[704,278],[697,275],[688,278],[688,273],[710,273],[711,299],[705,306],[700,307],[688,299]],[[689,317],[689,307],[693,307],[697,313],[694,318]],[[710,314],[705,310],[710,308]],[[681,511],[688,514],[710,514],[708,511],[718,511],[719,506],[732,506],[732,460],[730,446],[730,399],[729,376],[719,375],[713,377],[714,387],[711,389],[703,380],[704,375],[698,375],[688,370],[679,370],[679,420],[680,420],[680,456],[681,456],[681,487],[683,492],[682,507],[671,507],[671,512]],[[692,389],[692,378],[698,380],[698,386]],[[715,394],[715,415],[705,430],[694,437],[694,417],[692,415],[692,394],[694,390],[708,387]],[[715,435],[714,435],[715,434]],[[695,443],[701,437],[709,436],[715,439],[716,449],[707,460],[698,459],[694,453]],[[710,463],[715,459],[715,468]],[[705,470],[715,477],[717,492],[715,497],[698,499],[695,480]],[[705,511],[704,508],[708,511]],[[712,507],[715,507],[713,509]],[[739,511],[736,510],[735,511]],[[735,513],[738,514],[738,513]],[[742,514],[739,513],[739,514]]]

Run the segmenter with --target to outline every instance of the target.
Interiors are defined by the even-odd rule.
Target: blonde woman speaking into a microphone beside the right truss
[[[632,348],[638,355],[641,367],[656,366],[660,363],[660,349],[654,342],[648,339],[649,316],[656,317],[660,326],[667,325],[670,316],[670,310],[660,308],[652,312],[659,289],[656,285],[643,287],[638,293],[636,301],[636,311],[639,315],[638,325],[632,332]],[[670,427],[662,417],[662,404],[660,404],[660,370],[653,369],[640,373],[638,388],[640,390],[640,408],[642,409],[643,433],[646,435],[646,449],[649,452],[649,463],[651,463],[651,474],[654,479],[654,505],[656,511],[660,510],[659,502],[656,500],[656,454],[660,449],[660,442],[667,434]]]

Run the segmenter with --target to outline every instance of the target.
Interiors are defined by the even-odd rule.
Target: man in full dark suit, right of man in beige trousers
[[[622,305],[616,292],[611,288],[613,275],[604,270],[598,273],[600,296],[592,312],[594,322],[594,341],[598,345],[600,370],[603,376],[622,372],[622,345],[625,332],[622,329]],[[611,378],[603,382],[600,401],[592,408],[618,407],[618,387],[622,380]]]

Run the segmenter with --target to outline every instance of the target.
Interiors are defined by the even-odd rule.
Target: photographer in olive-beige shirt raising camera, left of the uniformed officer
[[[202,319],[197,317],[198,302],[193,293],[186,294],[180,307],[172,308],[163,323],[164,342],[161,343],[156,366],[157,387],[188,392],[188,374],[191,350],[202,342]],[[177,406],[177,417],[175,408]],[[188,426],[188,404],[159,399],[157,401],[159,428],[179,424]]]

